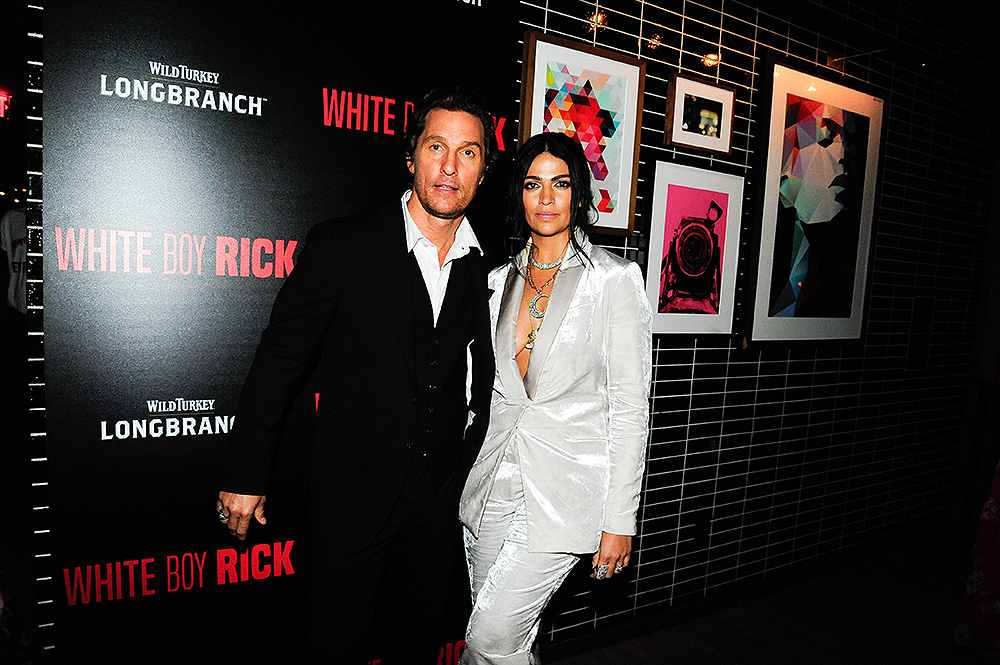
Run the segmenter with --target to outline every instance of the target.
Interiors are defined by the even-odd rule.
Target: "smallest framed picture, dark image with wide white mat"
[[[728,155],[733,149],[736,91],[674,73],[667,93],[663,141]]]

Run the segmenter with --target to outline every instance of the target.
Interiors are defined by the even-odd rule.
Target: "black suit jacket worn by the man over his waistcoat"
[[[410,260],[398,201],[380,213],[310,230],[240,395],[221,489],[266,493],[289,403],[318,363],[313,510],[327,511],[337,528],[358,538],[384,523],[417,454]],[[495,372],[487,265],[475,250],[467,260],[475,322],[470,408],[476,416],[457,460],[459,485],[486,433]],[[463,424],[466,415],[460,415]],[[457,519],[457,500],[455,514]]]

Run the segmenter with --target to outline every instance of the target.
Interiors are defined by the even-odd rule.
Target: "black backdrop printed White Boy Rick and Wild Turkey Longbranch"
[[[470,219],[486,243],[502,240],[520,71],[513,3],[309,4],[45,5],[46,435],[62,662],[262,662],[297,640],[310,392],[278,461],[269,524],[246,548],[216,520],[215,476],[308,228],[398,198],[407,117],[434,86],[472,87],[498,118],[505,153]],[[372,256],[364,288],[378,278],[379,238],[357,251]],[[443,663],[462,648],[464,593]]]

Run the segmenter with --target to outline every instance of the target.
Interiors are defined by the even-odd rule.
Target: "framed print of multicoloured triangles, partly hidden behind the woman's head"
[[[631,235],[646,63],[539,32],[524,38],[520,141],[560,132],[583,146],[599,233]]]

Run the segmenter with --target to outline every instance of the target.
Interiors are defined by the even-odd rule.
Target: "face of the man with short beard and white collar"
[[[482,123],[464,111],[434,109],[407,165],[424,212],[454,220],[465,214],[482,181]]]

